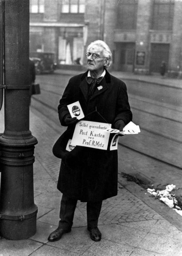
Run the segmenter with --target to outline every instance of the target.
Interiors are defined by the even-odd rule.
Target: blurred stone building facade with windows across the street
[[[54,52],[60,65],[85,63],[102,39],[114,70],[182,76],[181,0],[30,0],[30,51]]]

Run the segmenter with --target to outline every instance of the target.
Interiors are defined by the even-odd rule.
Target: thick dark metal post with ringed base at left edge
[[[29,131],[29,0],[0,0],[4,8],[4,112],[0,136],[0,234],[11,240],[36,232],[34,145]],[[2,31],[1,31],[2,33]],[[2,49],[1,49],[2,50]]]

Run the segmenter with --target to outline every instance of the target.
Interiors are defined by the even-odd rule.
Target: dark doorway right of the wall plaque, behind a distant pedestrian
[[[169,44],[151,44],[150,72],[159,73],[162,61],[165,61],[167,71],[169,62]]]

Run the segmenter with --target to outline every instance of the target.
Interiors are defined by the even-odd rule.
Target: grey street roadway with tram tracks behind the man
[[[54,128],[56,124],[58,132],[63,127],[59,124],[57,106],[69,78],[74,74],[78,71],[58,70],[54,75],[37,76],[41,94],[33,97],[32,108],[41,112],[47,123],[51,120]],[[116,71],[112,74],[126,82],[133,122],[139,124],[142,131],[139,135],[120,138],[119,172],[142,172],[154,183],[174,183],[181,187],[181,80]],[[182,191],[178,192],[181,195]]]

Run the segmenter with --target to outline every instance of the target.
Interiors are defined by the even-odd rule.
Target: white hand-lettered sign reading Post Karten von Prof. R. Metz
[[[81,120],[76,124],[71,144],[107,150],[110,128],[111,124]]]

